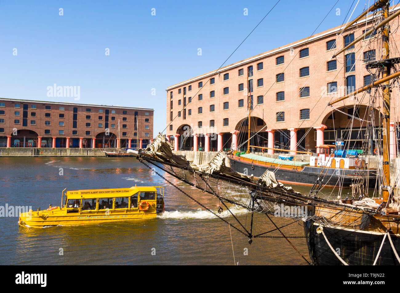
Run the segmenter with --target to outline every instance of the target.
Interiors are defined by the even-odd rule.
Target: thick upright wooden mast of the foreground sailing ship
[[[400,13],[400,11],[399,11]],[[382,14],[385,20],[390,19],[389,16],[389,1],[382,6]],[[394,14],[393,14],[394,15]],[[392,16],[393,16],[392,15]],[[382,59],[389,59],[389,26],[385,26],[382,31]],[[390,76],[390,64],[383,64],[382,78]],[[389,123],[390,123],[390,82],[386,81],[382,89],[383,96],[383,176],[385,181],[383,184],[386,188],[382,188],[383,200],[388,203],[390,186],[390,170],[389,170]]]

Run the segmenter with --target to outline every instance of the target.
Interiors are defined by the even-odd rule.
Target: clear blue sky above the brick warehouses
[[[225,65],[310,36],[335,2],[281,0]],[[352,18],[372,2],[360,0]],[[0,97],[74,102],[46,88],[80,86],[79,103],[154,108],[157,134],[165,89],[219,68],[275,3],[0,1]],[[342,24],[352,3],[339,0],[316,32]]]

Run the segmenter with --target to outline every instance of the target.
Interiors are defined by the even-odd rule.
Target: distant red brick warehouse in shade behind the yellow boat
[[[153,139],[153,114],[139,107],[0,99],[0,147],[144,147]]]

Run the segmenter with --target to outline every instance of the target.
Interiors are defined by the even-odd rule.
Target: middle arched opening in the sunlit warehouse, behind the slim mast
[[[238,147],[239,151],[245,151],[247,149],[247,141],[248,141],[248,117],[240,120],[236,126],[235,130],[239,133],[237,135],[238,138]],[[261,146],[268,147],[268,133],[266,132],[266,123],[262,118],[259,117],[251,117],[250,119],[250,146]],[[256,134],[258,132],[258,134]],[[256,134],[254,136],[254,134]],[[259,149],[258,149],[259,150]]]

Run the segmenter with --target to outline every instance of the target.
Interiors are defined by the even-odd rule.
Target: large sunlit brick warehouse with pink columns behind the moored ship
[[[398,8],[391,8],[390,13]],[[246,147],[251,104],[251,132],[261,130],[251,140],[252,145],[308,150],[343,138],[355,149],[362,148],[366,123],[354,120],[352,130],[347,128],[351,116],[363,118],[369,114],[368,98],[358,94],[335,105],[336,109],[327,104],[373,80],[365,65],[381,59],[380,34],[365,36],[337,58],[332,56],[378,21],[378,17],[369,17],[342,33],[338,26],[168,87],[167,138],[174,141],[175,149]],[[396,28],[397,22],[396,18],[390,25]],[[393,30],[390,57],[400,57],[399,40],[400,30]],[[394,88],[392,113],[400,106],[398,94],[398,88]],[[355,103],[362,106],[354,110]],[[380,96],[373,110],[377,135],[382,129],[379,105]],[[390,120],[393,157],[398,149],[398,119],[391,115]],[[193,135],[186,138],[189,132]]]

